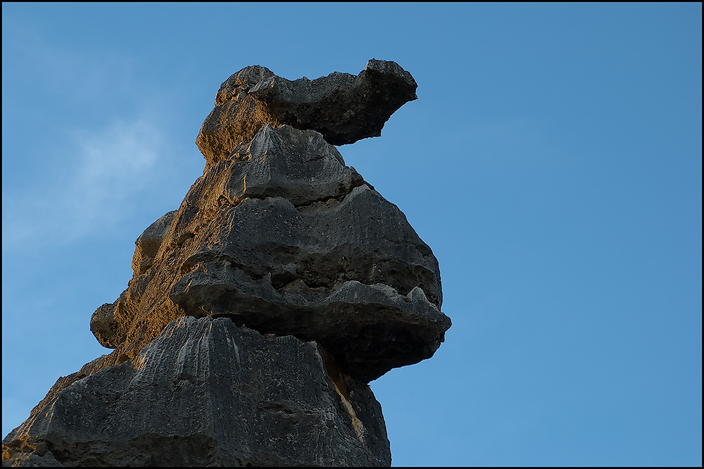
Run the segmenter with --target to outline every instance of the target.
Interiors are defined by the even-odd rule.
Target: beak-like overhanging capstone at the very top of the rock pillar
[[[417,99],[416,88],[400,65],[373,58],[357,76],[334,72],[316,80],[291,81],[253,65],[222,83],[196,144],[208,168],[266,124],[315,130],[333,145],[379,137],[391,114]]]

